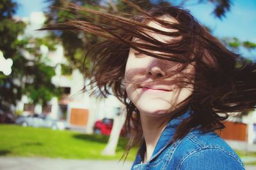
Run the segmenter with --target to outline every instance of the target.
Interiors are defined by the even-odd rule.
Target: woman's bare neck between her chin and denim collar
[[[146,144],[146,152],[144,155],[144,163],[147,162],[152,153],[154,152],[154,148],[157,145],[157,141],[160,138],[168,120],[170,118],[156,118],[156,117],[148,117],[145,116],[147,114],[140,114],[141,115],[141,127],[143,130],[143,137],[145,139]]]

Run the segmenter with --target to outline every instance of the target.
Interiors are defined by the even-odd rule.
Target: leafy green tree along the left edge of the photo
[[[5,58],[13,60],[12,74],[0,73],[0,108],[10,108],[22,95],[30,97],[32,103],[46,104],[60,90],[51,83],[55,71],[47,66],[40,46],[52,49],[51,39],[21,38],[26,24],[13,18],[17,4],[3,0],[0,4],[0,50]],[[49,43],[50,42],[50,43]],[[25,56],[25,52],[31,57]]]

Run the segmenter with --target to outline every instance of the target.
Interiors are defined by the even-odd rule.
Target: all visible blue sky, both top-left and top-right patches
[[[20,4],[17,15],[29,17],[33,11],[42,11],[47,8],[45,0],[14,0]],[[231,0],[231,10],[221,20],[214,17],[211,3],[197,4],[198,0],[189,0],[186,8],[191,11],[202,24],[212,29],[212,34],[219,38],[236,37],[242,41],[256,43],[256,1],[255,0]],[[179,4],[180,1],[171,1]]]

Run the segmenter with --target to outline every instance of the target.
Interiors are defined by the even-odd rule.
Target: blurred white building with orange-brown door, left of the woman
[[[36,17],[38,16],[39,14],[36,13]],[[33,22],[33,18],[31,17],[30,22]],[[41,21],[44,22],[44,19]],[[28,28],[32,27],[35,30],[35,27],[31,25]],[[39,25],[38,22],[36,25]],[[22,96],[15,108],[16,111],[21,112],[22,115],[38,113],[49,115],[56,120],[67,120],[70,127],[86,128],[88,133],[92,132],[96,120],[115,117],[117,108],[120,108],[121,105],[116,97],[96,99],[90,97],[88,92],[83,92],[82,89],[86,81],[78,69],[73,69],[72,73],[68,75],[61,73],[62,64],[68,64],[61,45],[56,45],[56,51],[49,51],[47,46],[42,45],[40,51],[45,57],[45,63],[56,68],[56,75],[52,78],[52,83],[56,87],[61,87],[64,94],[59,101],[54,97],[44,108],[40,104],[31,104],[28,96]],[[26,55],[31,57],[29,53]]]

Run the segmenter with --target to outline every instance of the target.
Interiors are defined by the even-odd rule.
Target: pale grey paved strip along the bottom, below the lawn
[[[131,166],[132,162],[116,160],[0,157],[1,170],[128,170]],[[246,166],[246,170],[255,169],[256,166]]]

